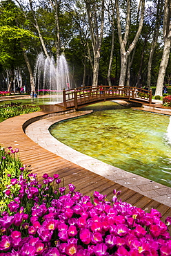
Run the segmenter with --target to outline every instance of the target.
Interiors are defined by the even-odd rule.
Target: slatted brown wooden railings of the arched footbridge
[[[82,86],[75,89],[63,89],[63,102],[74,100],[75,107],[86,102],[109,98],[143,99],[151,104],[152,91],[133,86]]]

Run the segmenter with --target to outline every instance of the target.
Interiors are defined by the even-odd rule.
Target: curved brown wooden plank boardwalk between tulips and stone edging
[[[51,108],[50,111],[48,111],[48,107],[46,107],[44,111],[17,116],[1,122],[1,145],[19,148],[21,161],[26,165],[31,165],[30,170],[38,174],[39,181],[42,180],[41,176],[44,173],[48,173],[49,175],[58,173],[60,178],[64,179],[66,186],[69,183],[74,183],[77,190],[80,190],[83,194],[92,195],[92,193],[97,190],[106,194],[107,198],[110,200],[112,199],[112,191],[114,189],[121,190],[119,198],[121,198],[122,201],[143,208],[147,212],[149,212],[151,208],[156,208],[163,215],[163,221],[166,217],[171,215],[170,207],[105,179],[98,174],[94,174],[56,154],[48,152],[48,150],[43,149],[43,147],[40,147],[26,136],[23,131],[26,122],[32,122],[32,118],[34,118],[34,120],[39,119],[54,111],[61,111],[61,109],[56,107],[56,109]]]

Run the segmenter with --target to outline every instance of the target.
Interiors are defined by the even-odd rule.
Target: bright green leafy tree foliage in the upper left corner
[[[23,27],[25,18],[13,1],[1,1],[0,13],[0,64],[13,70],[25,63],[21,44],[29,45],[37,37]]]

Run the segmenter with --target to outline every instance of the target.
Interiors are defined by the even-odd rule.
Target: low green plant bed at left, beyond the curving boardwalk
[[[32,113],[35,111],[40,111],[40,107],[22,105],[21,103],[4,104],[0,107],[0,117],[3,120],[6,120],[14,116],[23,115],[26,113]]]

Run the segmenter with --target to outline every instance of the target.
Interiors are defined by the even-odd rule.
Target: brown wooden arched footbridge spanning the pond
[[[84,86],[63,89],[63,109],[81,109],[89,104],[106,100],[125,100],[141,104],[152,103],[152,91],[131,86]]]

